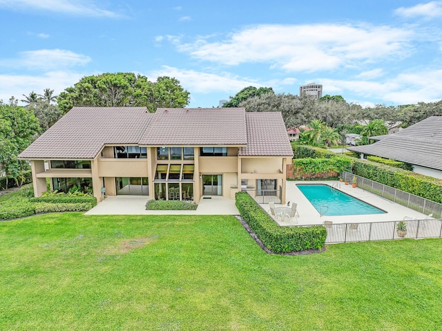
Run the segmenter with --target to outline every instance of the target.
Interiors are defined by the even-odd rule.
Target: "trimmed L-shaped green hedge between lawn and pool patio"
[[[327,230],[322,225],[313,227],[280,227],[248,193],[236,193],[236,207],[242,219],[274,253],[300,252],[322,249]]]

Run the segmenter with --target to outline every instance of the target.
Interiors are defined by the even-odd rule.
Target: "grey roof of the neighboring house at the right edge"
[[[371,137],[374,144],[348,147],[365,155],[407,162],[413,171],[442,179],[442,116],[432,116],[394,133]]]

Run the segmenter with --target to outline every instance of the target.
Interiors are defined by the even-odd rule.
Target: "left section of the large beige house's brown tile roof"
[[[153,117],[146,107],[73,107],[19,158],[95,158],[104,144],[137,144]]]

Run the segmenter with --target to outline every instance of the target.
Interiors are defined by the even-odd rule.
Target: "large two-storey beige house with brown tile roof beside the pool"
[[[278,112],[244,108],[74,107],[23,151],[35,196],[77,186],[106,196],[234,198],[241,185],[285,203],[293,151]],[[239,187],[239,189],[238,189]],[[266,191],[269,193],[269,191]]]

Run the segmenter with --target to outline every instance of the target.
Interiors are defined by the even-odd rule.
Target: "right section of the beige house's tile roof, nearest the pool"
[[[280,112],[246,113],[247,146],[240,156],[291,156],[293,150]]]

